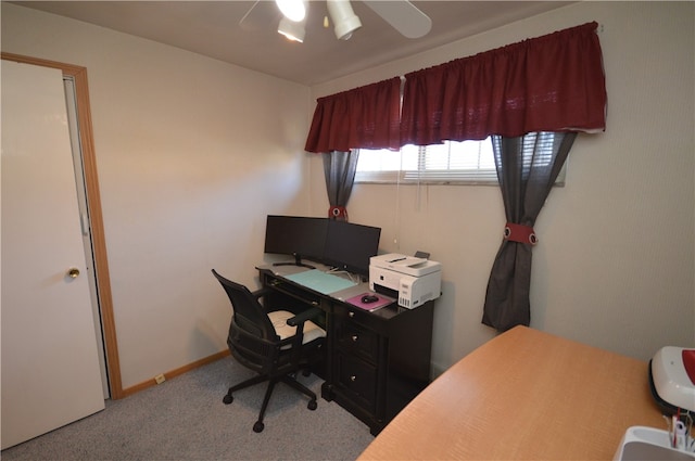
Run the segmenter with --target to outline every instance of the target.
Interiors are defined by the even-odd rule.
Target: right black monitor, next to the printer
[[[329,220],[324,262],[369,276],[369,258],[379,252],[381,228]]]

